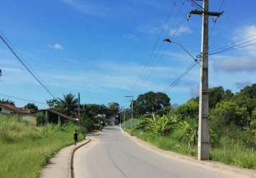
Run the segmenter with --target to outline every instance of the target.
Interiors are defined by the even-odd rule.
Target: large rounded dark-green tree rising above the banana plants
[[[139,95],[134,101],[134,110],[138,115],[159,112],[164,107],[170,106],[170,98],[165,93],[152,91]]]

